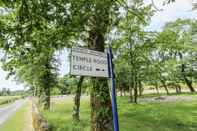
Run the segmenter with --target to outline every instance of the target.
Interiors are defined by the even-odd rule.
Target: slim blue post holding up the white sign
[[[109,69],[109,78],[111,78],[112,85],[112,113],[113,113],[113,126],[114,131],[119,131],[118,123],[118,112],[117,112],[117,102],[116,102],[116,86],[115,86],[115,76],[114,76],[114,67],[113,67],[113,54],[112,49],[109,48],[108,52],[108,69]]]

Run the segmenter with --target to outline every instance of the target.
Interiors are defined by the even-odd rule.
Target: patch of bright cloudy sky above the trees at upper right
[[[196,19],[197,12],[192,11],[191,0],[176,0],[176,2],[162,6],[163,0],[154,0],[155,5],[162,11],[158,11],[151,19],[147,30],[161,30],[166,22],[175,21],[178,18]],[[146,3],[151,3],[151,0],[146,0]]]

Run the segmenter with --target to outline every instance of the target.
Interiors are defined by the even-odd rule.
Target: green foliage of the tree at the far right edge
[[[161,64],[165,63],[165,66],[160,68],[168,74],[169,81],[180,82],[182,80],[181,64],[186,64],[186,76],[195,76],[196,62],[194,62],[193,55],[197,48],[192,35],[194,23],[196,21],[181,19],[169,22],[155,40],[157,55],[161,58],[159,60],[158,57],[157,61]],[[180,55],[183,57],[180,58]]]

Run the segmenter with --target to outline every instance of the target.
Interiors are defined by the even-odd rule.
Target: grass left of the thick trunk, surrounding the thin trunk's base
[[[52,111],[43,112],[52,131],[88,131],[90,130],[90,107],[88,100],[81,103],[79,123],[72,121],[73,102],[57,102],[52,106]]]

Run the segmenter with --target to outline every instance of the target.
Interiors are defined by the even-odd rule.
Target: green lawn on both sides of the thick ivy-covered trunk
[[[53,104],[44,112],[52,131],[89,131],[89,100],[81,102],[81,122],[72,122],[72,101]],[[118,98],[120,131],[197,131],[197,101],[129,104],[128,98]]]

